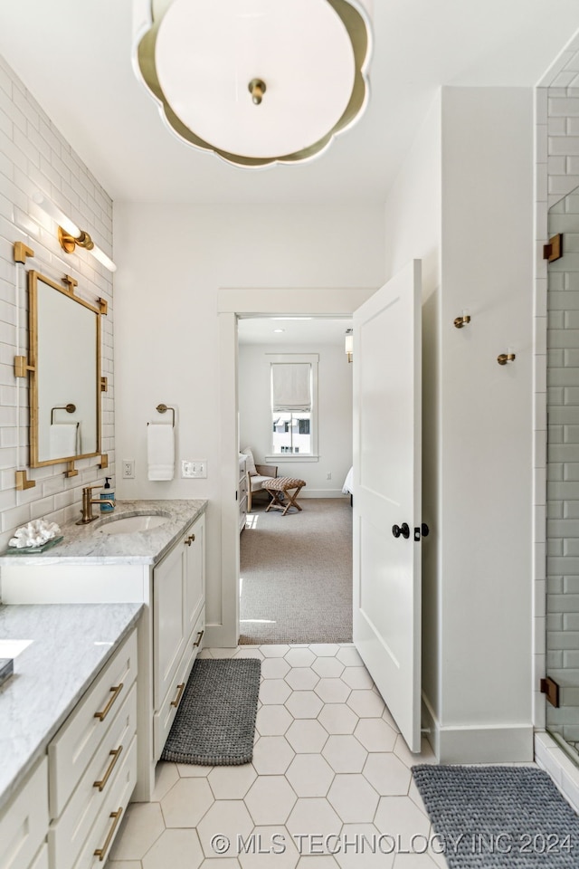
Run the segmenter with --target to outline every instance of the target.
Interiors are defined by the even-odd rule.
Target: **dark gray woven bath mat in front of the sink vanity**
[[[195,661],[161,755],[176,763],[249,763],[253,754],[261,662]]]

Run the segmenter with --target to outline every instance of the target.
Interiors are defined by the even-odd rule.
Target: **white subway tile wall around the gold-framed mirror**
[[[114,475],[112,276],[87,251],[62,253],[52,220],[33,202],[37,191],[111,255],[109,196],[0,57],[0,551],[14,529],[29,520],[76,518],[82,486],[104,477],[97,459],[83,459],[77,463],[78,476],[67,479],[64,463],[50,465],[28,471],[34,488],[15,489],[14,471],[28,463],[28,390],[26,381],[14,377],[16,348],[20,345],[18,353],[24,355],[27,347],[24,266],[14,263],[16,241],[34,251],[27,269],[55,282],[71,274],[81,298],[94,303],[101,297],[109,303],[108,316],[101,320],[101,374],[109,378],[109,391],[102,394],[101,452],[109,455],[106,473]],[[66,335],[55,340],[65,341]]]

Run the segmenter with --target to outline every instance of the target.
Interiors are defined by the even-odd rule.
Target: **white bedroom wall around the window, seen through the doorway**
[[[307,482],[300,498],[344,497],[342,485],[352,464],[352,366],[344,345],[258,345],[239,348],[240,444],[252,447],[256,461],[271,453],[271,389],[268,353],[318,353],[318,462],[278,459],[280,476]],[[331,480],[327,480],[331,473]]]

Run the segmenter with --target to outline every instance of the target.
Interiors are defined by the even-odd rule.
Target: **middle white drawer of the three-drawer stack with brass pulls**
[[[48,832],[51,862],[58,869],[70,869],[74,864],[90,827],[115,787],[123,755],[136,732],[137,685],[134,684],[62,816],[52,823]]]

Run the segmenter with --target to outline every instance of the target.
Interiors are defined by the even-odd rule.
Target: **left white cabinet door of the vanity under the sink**
[[[181,661],[188,636],[185,582],[188,550],[185,535],[153,573],[154,702],[158,710]]]

